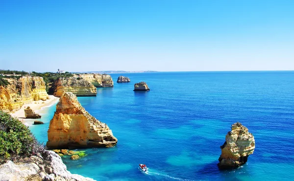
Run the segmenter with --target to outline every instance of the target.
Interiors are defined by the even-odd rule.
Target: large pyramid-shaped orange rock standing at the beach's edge
[[[73,93],[60,97],[49,125],[49,148],[112,147],[117,141],[109,127],[90,115]]]

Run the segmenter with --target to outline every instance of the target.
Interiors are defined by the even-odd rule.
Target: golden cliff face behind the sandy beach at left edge
[[[3,111],[17,111],[24,104],[49,98],[42,77],[23,76],[6,80],[10,85],[0,86],[0,109]]]

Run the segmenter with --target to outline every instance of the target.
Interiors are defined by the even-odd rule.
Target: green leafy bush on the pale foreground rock
[[[0,110],[0,163],[44,151],[45,146],[22,122]]]

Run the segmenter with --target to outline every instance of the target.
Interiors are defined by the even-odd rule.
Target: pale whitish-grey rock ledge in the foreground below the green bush
[[[61,158],[53,151],[21,158],[17,163],[0,165],[1,181],[94,181],[67,171]]]

